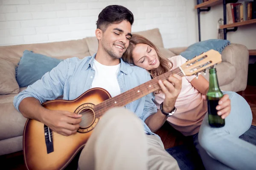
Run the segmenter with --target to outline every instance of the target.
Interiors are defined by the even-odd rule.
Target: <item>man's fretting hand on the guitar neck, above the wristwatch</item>
[[[165,81],[159,80],[159,85],[165,94],[165,99],[163,101],[163,110],[167,113],[172,111],[175,107],[175,102],[180,94],[182,77],[177,74],[172,74]]]

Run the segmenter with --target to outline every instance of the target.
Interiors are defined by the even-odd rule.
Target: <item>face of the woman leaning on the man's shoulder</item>
[[[160,65],[157,52],[147,44],[137,44],[132,51],[134,64],[152,70]]]

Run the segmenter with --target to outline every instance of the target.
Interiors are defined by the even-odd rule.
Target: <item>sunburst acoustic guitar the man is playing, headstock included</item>
[[[55,99],[42,103],[49,110],[69,111],[82,114],[77,133],[63,136],[34,119],[28,119],[23,131],[23,155],[28,170],[62,170],[84,147],[102,115],[110,108],[123,107],[160,89],[158,80],[172,74],[197,75],[221,62],[218,51],[209,50],[183,65],[160,75],[142,85],[112,97],[102,88],[92,88],[74,100]]]

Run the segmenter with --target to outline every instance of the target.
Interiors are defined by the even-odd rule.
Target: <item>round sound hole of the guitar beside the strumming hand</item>
[[[80,123],[81,128],[86,128],[93,124],[95,116],[92,110],[84,109],[80,111],[79,114],[82,115],[82,121]]]

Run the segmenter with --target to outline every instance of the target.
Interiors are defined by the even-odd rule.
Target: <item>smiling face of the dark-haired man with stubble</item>
[[[102,46],[108,56],[120,59],[129,45],[131,38],[131,23],[123,20],[121,23],[112,23],[101,33],[99,45]]]

